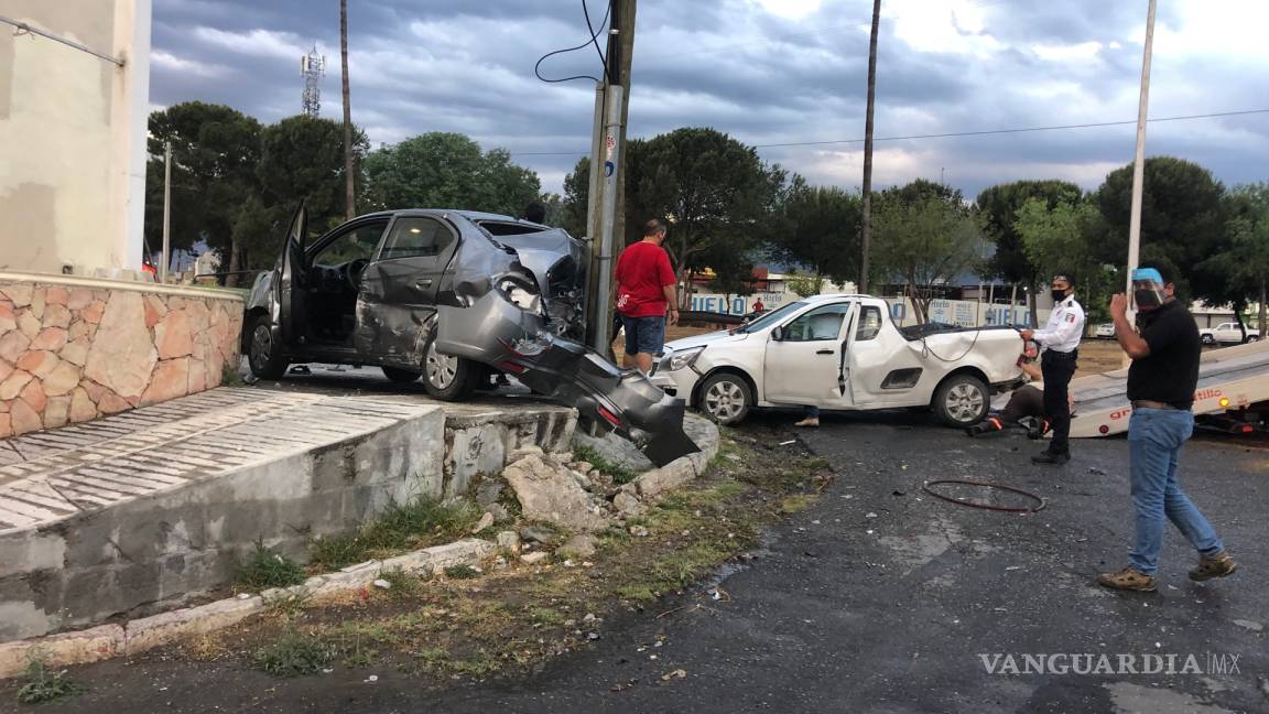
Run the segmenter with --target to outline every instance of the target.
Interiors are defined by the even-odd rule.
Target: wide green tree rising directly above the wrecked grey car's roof
[[[538,201],[538,175],[505,149],[482,151],[462,133],[430,132],[371,152],[369,199],[378,208],[466,208],[519,216]]]

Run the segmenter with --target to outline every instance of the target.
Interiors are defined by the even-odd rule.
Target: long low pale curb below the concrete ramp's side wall
[[[263,612],[279,597],[325,600],[352,593],[373,583],[383,570],[435,572],[450,565],[478,563],[497,550],[487,540],[463,539],[415,550],[386,560],[367,560],[338,573],[313,576],[303,584],[272,588],[250,597],[228,597],[198,607],[183,607],[124,624],[100,625],[0,644],[0,678],[23,673],[32,657],[49,667],[88,664],[119,656],[133,656],[174,640],[212,633]]]

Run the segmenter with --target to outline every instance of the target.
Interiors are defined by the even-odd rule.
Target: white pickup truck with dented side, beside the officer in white
[[[755,407],[930,408],[945,424],[987,415],[992,391],[1020,384],[1023,342],[1011,328],[900,329],[884,300],[817,295],[735,330],[665,346],[652,382],[711,419]]]

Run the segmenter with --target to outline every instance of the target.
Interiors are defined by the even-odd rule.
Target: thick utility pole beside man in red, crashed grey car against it
[[[612,348],[612,292],[613,254],[618,243],[624,243],[624,191],[626,177],[622,150],[626,146],[626,118],[629,113],[629,74],[634,53],[636,0],[610,0],[610,29],[608,36],[608,65],[603,88],[596,88],[595,140],[590,155],[589,205],[591,262],[594,280],[589,297],[591,309],[590,346],[600,354]],[[599,119],[603,119],[602,122]],[[622,245],[623,246],[623,245]]]

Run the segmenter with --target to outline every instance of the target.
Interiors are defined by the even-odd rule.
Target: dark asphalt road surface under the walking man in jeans
[[[726,573],[721,587],[730,598],[712,600],[712,583],[704,583],[609,621],[594,649],[528,680],[443,692],[312,680],[302,704],[273,700],[266,710],[1269,711],[1269,450],[1187,447],[1183,483],[1241,569],[1190,583],[1194,555],[1170,530],[1160,592],[1147,595],[1093,584],[1099,570],[1122,565],[1132,532],[1122,440],[1079,441],[1068,465],[1046,469],[1029,462],[1037,445],[1025,438],[970,440],[921,414],[829,415],[802,438],[838,478],[819,504],[772,531],[758,559]],[[921,492],[940,478],[1010,484],[1042,495],[1047,507],[1003,513]],[[1004,666],[1013,654],[1024,668],[1024,654],[1056,653],[1108,654],[1114,667],[1131,656],[1138,670],[1151,666],[1146,654],[1176,658],[1170,675],[1006,675],[990,673],[983,662]],[[1181,672],[1188,656],[1202,673]],[[1214,662],[1230,672],[1213,672]],[[253,673],[240,681],[264,682]],[[184,690],[173,691],[176,709],[199,710],[190,699],[197,685],[173,685]],[[217,689],[230,682],[202,685],[211,710],[222,699]]]

